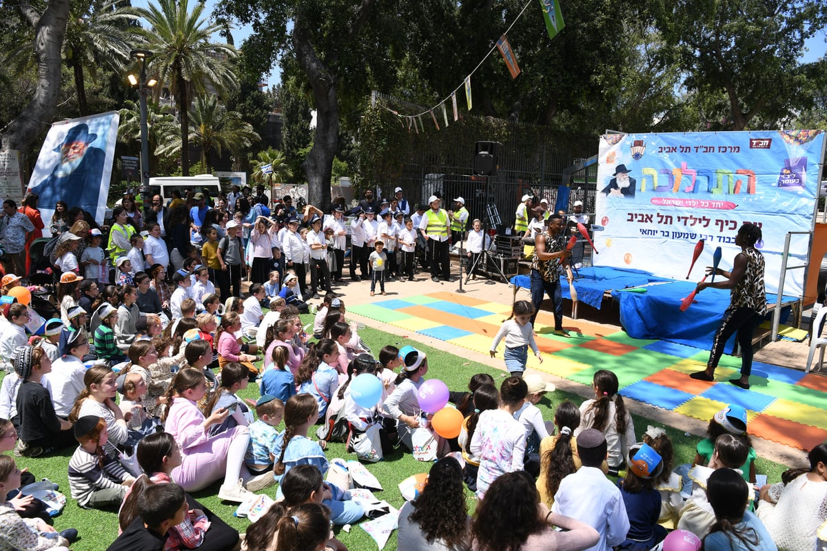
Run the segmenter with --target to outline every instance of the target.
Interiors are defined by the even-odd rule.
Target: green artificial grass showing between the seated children
[[[304,316],[304,323],[312,321],[312,316]],[[371,348],[374,355],[378,355],[380,349],[387,344],[393,344],[396,347],[403,347],[406,344],[412,344],[428,354],[428,375],[426,378],[437,378],[445,382],[451,390],[466,390],[468,381],[472,375],[479,372],[489,373],[494,376],[497,386],[505,376],[504,371],[497,370],[490,365],[483,365],[478,362],[466,361],[464,358],[455,356],[448,352],[442,352],[437,348],[424,346],[415,343],[412,340],[400,338],[392,333],[385,333],[372,328],[364,328],[360,331],[362,340]],[[500,366],[501,360],[492,360],[491,365]],[[590,381],[589,381],[590,382]],[[253,383],[239,392],[242,398],[258,397],[258,386]],[[554,392],[546,397],[538,404],[540,410],[543,411],[544,419],[553,419],[554,410],[557,405],[563,400],[571,400],[576,405],[580,405],[582,398],[578,395],[569,394],[562,391]],[[638,438],[646,430],[648,424],[653,424],[649,419],[633,415],[634,425]],[[662,426],[662,425],[660,425]],[[666,427],[669,438],[672,439],[675,448],[675,465],[681,463],[691,462],[695,457],[696,443],[699,438],[696,436],[687,436],[683,429],[676,429]],[[314,431],[314,428],[311,428]],[[314,434],[308,434],[311,438],[315,438]],[[55,518],[55,528],[76,528],[79,530],[80,539],[72,545],[72,549],[78,551],[102,551],[106,549],[109,544],[112,544],[117,537],[117,515],[114,512],[104,512],[100,510],[84,510],[81,509],[74,500],[69,496],[69,479],[67,477],[67,465],[69,458],[74,450],[66,449],[60,454],[51,454],[42,458],[17,458],[19,467],[28,467],[35,477],[49,478],[52,482],[60,484],[60,491],[63,491],[67,497],[66,507],[63,513]],[[9,452],[11,453],[11,452]],[[344,444],[331,443],[327,447],[327,458],[346,458],[347,460],[355,459],[356,456],[347,453]],[[385,461],[378,463],[368,463],[367,468],[375,477],[379,479],[384,491],[376,491],[375,496],[378,499],[388,501],[397,509],[404,503],[402,496],[399,494],[397,484],[418,472],[428,472],[430,464],[417,462],[410,455],[410,453],[402,453],[401,450],[396,450],[394,453],[385,456]],[[756,461],[756,470],[758,473],[767,474],[770,482],[777,482],[781,479],[781,473],[786,469],[785,466],[768,461],[763,458],[758,458]],[[203,505],[213,510],[214,513],[221,516],[227,524],[236,528],[239,532],[246,531],[250,522],[243,518],[237,518],[232,515],[236,510],[236,504],[228,504],[227,502],[218,499],[218,486],[220,482],[216,482],[213,486],[209,486],[206,490],[194,492],[193,496],[201,501]],[[267,488],[263,493],[275,498],[276,486]],[[471,492],[466,491],[467,504],[469,512],[473,511],[474,498]],[[344,532],[342,529],[337,530],[337,537],[347,545],[351,551],[361,551],[376,549],[376,544],[373,539],[358,525],[354,525],[350,533]],[[395,549],[396,547],[396,533],[391,535],[385,549]]]

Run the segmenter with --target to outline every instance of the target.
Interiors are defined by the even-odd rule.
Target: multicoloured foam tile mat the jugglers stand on
[[[449,292],[380,300],[349,311],[476,352],[490,350],[511,307]],[[528,367],[590,385],[598,369],[614,371],[620,394],[695,419],[707,420],[726,404],[748,410],[749,433],[809,450],[827,439],[827,377],[753,362],[751,387],[729,384],[740,358],[724,355],[715,381],[689,374],[705,368],[709,351],[666,341],[631,338],[623,331],[584,320],[563,323],[571,338],[553,334],[554,319],[540,312],[534,330],[543,363],[528,355]],[[504,343],[497,360],[502,362]]]

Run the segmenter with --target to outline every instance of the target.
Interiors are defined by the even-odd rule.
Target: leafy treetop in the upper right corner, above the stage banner
[[[657,4],[656,4],[657,5]],[[667,0],[658,26],[681,49],[691,90],[726,96],[724,127],[770,125],[811,104],[804,43],[825,28],[822,0]]]

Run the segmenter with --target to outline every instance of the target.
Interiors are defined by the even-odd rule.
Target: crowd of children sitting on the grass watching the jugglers
[[[272,234],[261,226],[256,239]],[[135,237],[132,247],[140,247]],[[322,244],[323,237],[313,239]],[[208,234],[205,249],[214,241]],[[753,488],[747,413],[728,405],[710,419],[692,464],[673,465],[663,429],[648,427],[638,441],[618,378],[605,369],[594,372],[593,397],[579,407],[562,401],[553,419],[543,419],[537,405],[555,387],[525,373],[528,348],[543,361],[526,301],[514,303],[490,347],[495,357],[505,341],[509,376],[498,385],[480,374],[471,378],[470,392],[452,394],[464,421],[449,441],[428,428],[431,414],[419,404],[428,376],[424,352],[389,345],[374,357],[356,325],[345,321],[344,301],[331,292],[313,321],[318,340],[310,343],[299,317],[307,294],[293,271],[283,278],[270,272],[266,284],[252,285],[245,300],[231,297],[222,310],[210,270],[222,270],[224,246],[217,245],[218,266],[174,272],[170,323],[140,314],[141,294],[156,279],[130,272],[137,256],[117,262],[124,282],[95,308],[94,320],[77,304],[80,286],[61,303],[65,320],[46,321],[38,343],[26,338],[26,306],[9,304],[3,312],[0,354],[8,375],[0,416],[11,423],[0,420],[0,450],[12,449],[5,443],[12,432],[16,452],[26,457],[74,447],[69,493],[81,507],[120,511],[113,551],[233,549],[237,532],[186,493],[216,482],[218,497],[236,503],[279,485],[279,503],[247,532],[248,551],[345,549],[330,526],[355,523],[366,510],[346,489],[323,482],[330,467],[325,448],[343,438],[354,449],[369,431],[380,435],[383,453],[396,444],[422,458],[423,434],[435,441],[439,459],[430,482],[399,519],[403,551],[646,551],[667,529],[696,534],[706,549],[813,549],[827,517],[825,445],[810,452],[808,468]],[[380,240],[374,246],[371,295],[377,283],[385,293],[385,271],[409,273],[408,262],[392,263]],[[410,244],[400,239],[399,246],[408,252]],[[253,265],[263,277],[262,263]],[[318,263],[313,272],[314,290],[329,291],[336,271]],[[381,382],[375,404],[357,403],[351,394],[364,374]],[[238,392],[251,383],[261,398],[242,400]],[[347,428],[344,437],[334,430],[338,422]],[[77,534],[56,533],[28,515],[22,498],[12,496],[21,486],[15,463],[0,456],[0,491],[9,496],[0,506],[0,542],[7,549],[68,546]],[[478,501],[471,520],[464,486]]]

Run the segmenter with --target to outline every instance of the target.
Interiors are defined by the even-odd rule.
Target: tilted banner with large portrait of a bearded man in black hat
[[[55,122],[37,156],[26,193],[40,196],[38,208],[49,235],[57,201],[80,207],[103,223],[115,157],[118,113]]]

